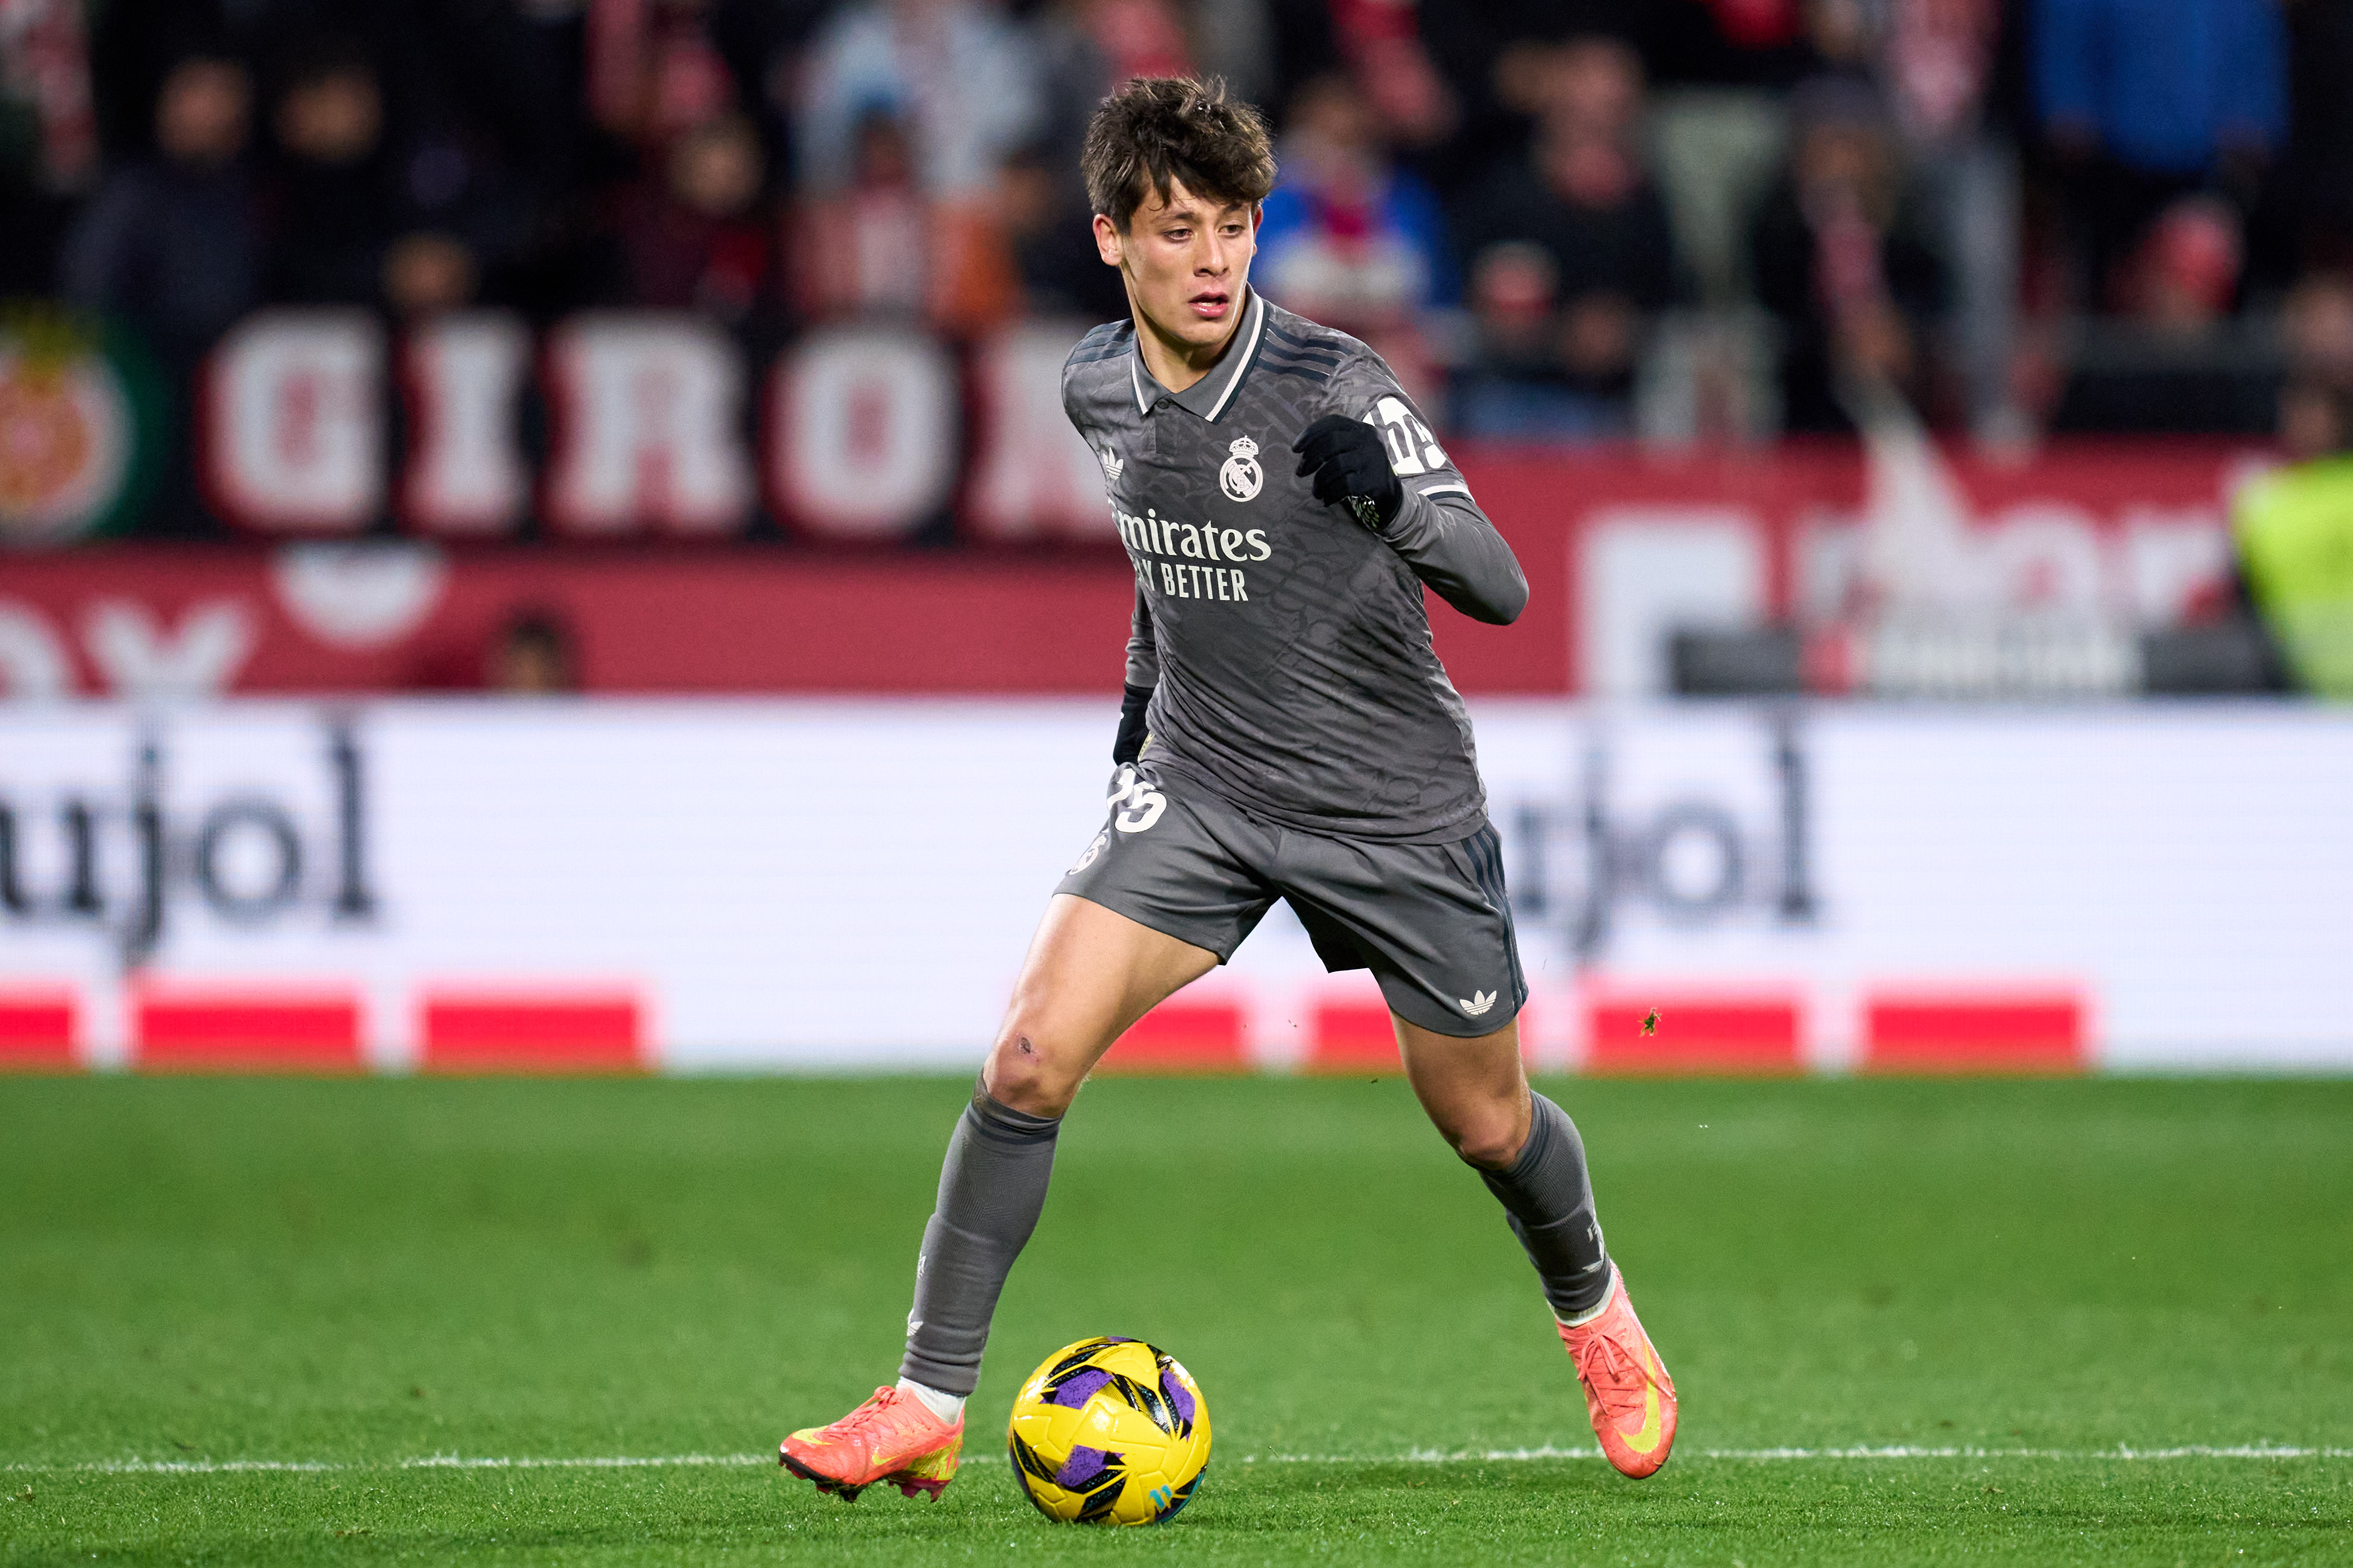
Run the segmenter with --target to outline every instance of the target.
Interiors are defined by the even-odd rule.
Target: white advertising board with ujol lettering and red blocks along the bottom
[[[0,1063],[967,1067],[1099,825],[1108,717],[0,710]],[[1473,717],[1539,1065],[2353,1070],[2353,717]],[[1113,1063],[1393,1048],[1278,910]]]

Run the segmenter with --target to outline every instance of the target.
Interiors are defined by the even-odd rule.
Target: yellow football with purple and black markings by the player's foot
[[[1209,1403],[1144,1340],[1064,1345],[1014,1396],[1021,1495],[1061,1523],[1167,1523],[1209,1467]]]

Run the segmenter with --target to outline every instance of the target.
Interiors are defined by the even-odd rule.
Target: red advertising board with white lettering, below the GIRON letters
[[[1826,691],[1991,696],[1986,682],[1922,670],[1967,665],[1967,646],[1857,635],[1875,595],[1871,538],[1889,531],[1927,541],[1953,597],[1887,630],[2007,628],[2054,651],[2129,649],[2137,630],[2228,604],[2224,515],[2254,461],[2200,444],[2052,447],[2017,465],[1887,442],[1685,458],[1449,451],[1532,588],[1508,628],[1431,599],[1454,684],[1605,698],[1664,693],[1675,630],[1762,623],[1807,630]],[[1134,569],[1108,534],[974,536],[953,550],[675,538],[59,550],[12,562],[0,583],[0,696],[471,691],[525,616],[569,632],[579,684],[598,693],[1085,693],[1118,684],[1132,607]],[[2071,668],[2085,663],[2038,691],[2137,684],[2129,658]]]

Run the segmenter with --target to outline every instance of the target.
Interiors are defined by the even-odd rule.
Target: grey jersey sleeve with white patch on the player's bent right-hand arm
[[[1351,355],[1332,376],[1327,414],[1362,418],[1381,433],[1388,468],[1405,489],[1398,515],[1381,529],[1381,541],[1414,569],[1428,588],[1489,625],[1511,625],[1527,609],[1527,576],[1487,512],[1471,496],[1471,484],[1454,458],[1445,454],[1414,400],[1381,355]]]

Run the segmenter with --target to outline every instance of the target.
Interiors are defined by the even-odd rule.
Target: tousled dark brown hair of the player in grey
[[[1169,200],[1172,181],[1231,207],[1257,205],[1275,188],[1275,148],[1266,120],[1226,96],[1226,82],[1139,75],[1104,99],[1087,122],[1078,167],[1087,200],[1122,230],[1151,190]]]

